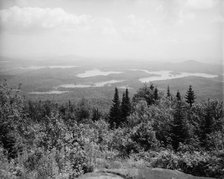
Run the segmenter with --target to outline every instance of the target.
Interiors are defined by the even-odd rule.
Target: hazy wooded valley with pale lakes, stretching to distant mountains
[[[108,61],[99,65],[94,59],[55,59],[34,63],[31,60],[15,62],[14,59],[2,58],[0,79],[6,79],[12,88],[22,84],[23,94],[31,100],[59,103],[86,98],[108,106],[115,87],[121,91],[128,88],[130,95],[133,95],[144,83],[153,83],[163,93],[166,93],[169,85],[174,95],[177,90],[184,95],[188,86],[192,85],[199,101],[223,98],[224,83],[220,65],[192,60],[182,63]],[[62,59],[65,59],[63,64]]]

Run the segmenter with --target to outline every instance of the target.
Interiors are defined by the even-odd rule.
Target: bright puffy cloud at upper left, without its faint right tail
[[[10,7],[0,11],[0,23],[8,30],[52,29],[87,25],[90,16],[76,16],[61,8]]]

